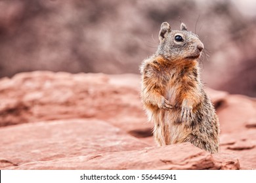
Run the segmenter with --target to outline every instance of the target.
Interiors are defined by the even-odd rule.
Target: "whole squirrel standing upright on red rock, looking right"
[[[219,152],[219,119],[200,80],[198,59],[204,48],[198,35],[161,24],[155,54],[142,61],[141,99],[160,146],[191,142]]]

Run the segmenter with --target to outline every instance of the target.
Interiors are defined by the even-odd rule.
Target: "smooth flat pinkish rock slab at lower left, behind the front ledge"
[[[21,165],[32,161],[136,150],[148,146],[99,120],[56,120],[0,128],[1,159]]]

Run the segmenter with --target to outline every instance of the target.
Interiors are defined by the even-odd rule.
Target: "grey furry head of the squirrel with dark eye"
[[[183,23],[181,23],[181,30],[172,30],[167,22],[163,22],[159,40],[157,54],[171,61],[194,60],[200,58],[202,54],[203,43],[198,35],[187,31]]]

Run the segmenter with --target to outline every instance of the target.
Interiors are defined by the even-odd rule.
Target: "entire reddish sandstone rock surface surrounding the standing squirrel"
[[[205,88],[221,152],[158,147],[139,75],[20,73],[0,80],[0,169],[256,169],[256,101]]]

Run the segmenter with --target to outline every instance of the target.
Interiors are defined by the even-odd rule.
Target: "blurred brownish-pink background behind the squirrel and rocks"
[[[139,74],[162,22],[205,45],[205,86],[256,97],[256,1],[0,1],[0,78],[47,70]]]

